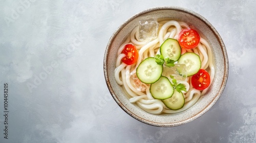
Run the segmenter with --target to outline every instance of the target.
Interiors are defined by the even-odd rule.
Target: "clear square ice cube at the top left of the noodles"
[[[159,23],[155,19],[141,20],[139,23],[139,40],[156,39]]]

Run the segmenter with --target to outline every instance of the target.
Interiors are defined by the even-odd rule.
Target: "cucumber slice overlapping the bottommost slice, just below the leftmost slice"
[[[151,84],[150,92],[155,99],[164,100],[173,96],[174,87],[168,78],[161,76],[157,82]]]

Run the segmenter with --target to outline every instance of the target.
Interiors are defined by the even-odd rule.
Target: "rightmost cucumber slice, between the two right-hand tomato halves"
[[[201,68],[200,57],[195,53],[187,52],[181,55],[178,63],[186,65],[187,77],[197,74]]]

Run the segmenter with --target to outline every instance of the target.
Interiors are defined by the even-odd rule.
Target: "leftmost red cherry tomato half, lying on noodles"
[[[126,44],[124,46],[124,49],[122,51],[122,54],[125,54],[126,56],[122,58],[122,62],[125,64],[134,64],[139,57],[139,53],[135,45],[133,44]]]

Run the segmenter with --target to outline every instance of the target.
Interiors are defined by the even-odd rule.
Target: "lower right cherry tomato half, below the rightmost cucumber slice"
[[[199,69],[198,73],[191,78],[191,84],[198,90],[203,90],[210,85],[210,75],[204,69]]]

